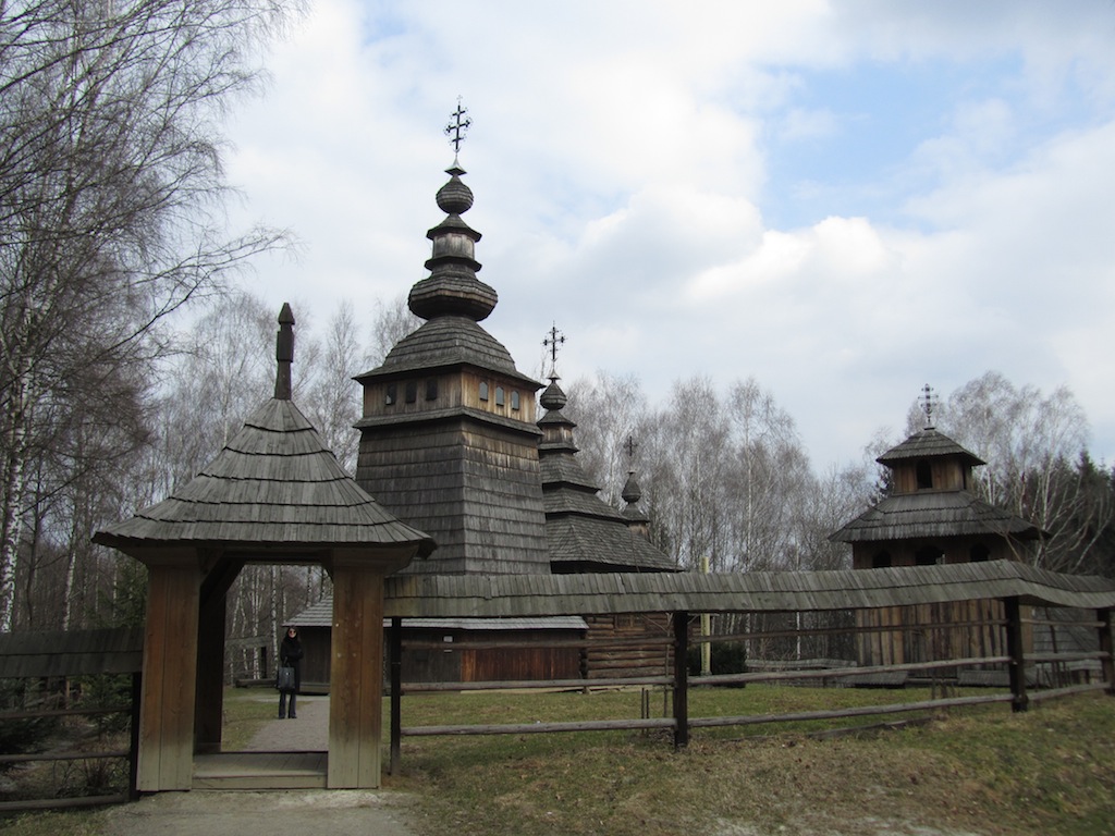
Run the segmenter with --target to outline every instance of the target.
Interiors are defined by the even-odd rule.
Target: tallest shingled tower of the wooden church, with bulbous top
[[[410,310],[426,322],[399,340],[363,387],[357,480],[430,533],[438,551],[407,572],[547,573],[535,392],[478,323],[496,292],[476,278],[481,234],[462,215],[473,193],[454,161],[437,193],[445,220],[427,232],[426,279]]]

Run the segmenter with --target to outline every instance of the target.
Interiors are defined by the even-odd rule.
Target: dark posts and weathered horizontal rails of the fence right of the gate
[[[404,737],[432,737],[432,736],[466,736],[466,735],[531,735],[531,733],[559,733],[571,731],[615,731],[637,729],[663,729],[673,732],[675,745],[683,746],[688,742],[689,731],[692,729],[711,729],[729,726],[756,726],[760,723],[779,722],[817,722],[826,720],[845,720],[857,717],[883,717],[912,712],[938,711],[947,708],[960,708],[972,706],[989,706],[997,703],[1010,703],[1011,710],[1025,711],[1030,702],[1039,702],[1050,699],[1058,699],[1082,693],[1103,691],[1115,694],[1115,664],[1113,664],[1113,641],[1111,635],[1112,621],[1107,610],[1096,611],[1094,618],[1082,618],[1077,621],[1051,620],[1022,618],[1024,607],[1018,599],[1004,600],[1002,611],[1006,618],[993,614],[986,619],[966,619],[957,622],[928,622],[920,624],[906,623],[849,623],[843,626],[817,625],[815,628],[799,629],[776,629],[756,630],[753,632],[734,632],[721,635],[690,634],[691,618],[688,612],[675,612],[671,614],[673,630],[670,636],[648,636],[641,643],[650,644],[652,641],[657,647],[667,645],[673,653],[672,671],[666,675],[658,677],[627,677],[621,679],[562,679],[562,680],[530,680],[530,681],[484,681],[484,682],[437,682],[419,683],[401,681],[401,655],[404,648],[426,648],[442,647],[435,643],[419,643],[401,641],[403,620],[394,618],[388,632],[389,645],[389,672],[390,672],[390,715],[391,715],[391,740],[390,740],[390,770],[397,772],[401,759],[400,741]],[[1034,631],[1048,629],[1050,634],[1055,630],[1085,629],[1092,631],[1092,635],[1098,635],[1097,651],[1035,651],[1024,652],[1026,641],[1024,631],[1030,631],[1029,641],[1032,642]],[[688,650],[691,645],[700,645],[715,642],[749,643],[763,642],[772,639],[805,640],[816,636],[837,635],[864,635],[869,633],[895,633],[906,632],[917,635],[925,635],[938,632],[956,632],[958,630],[973,630],[981,633],[993,631],[997,639],[996,647],[1005,648],[1006,652],[986,653],[981,655],[964,655],[957,658],[931,659],[928,661],[901,662],[892,664],[856,664],[854,661],[849,664],[841,664],[837,660],[825,660],[827,664],[817,667],[809,660],[801,660],[801,667],[794,667],[794,660],[773,660],[768,662],[767,670],[745,671],[738,673],[720,673],[706,675],[690,675],[687,667]],[[630,647],[640,643],[639,639],[623,639],[622,642]],[[524,642],[501,643],[498,641],[485,641],[485,649],[500,649],[503,647],[575,647],[584,648],[585,641],[556,641],[526,644]],[[604,640],[600,643],[612,644],[613,641]],[[1056,644],[1056,640],[1054,640]],[[472,647],[481,647],[476,643]],[[930,645],[932,647],[932,645]],[[1069,664],[1080,662],[1098,663],[1098,680],[1085,683],[1072,684],[1067,687],[1056,687],[1047,689],[1031,688],[1027,681],[1026,672],[1034,671],[1036,667],[1050,665],[1053,668],[1065,668]],[[762,662],[760,662],[762,663]],[[688,690],[690,687],[740,687],[750,683],[770,682],[801,682],[820,680],[822,684],[847,683],[856,679],[872,679],[879,682],[904,681],[906,674],[928,674],[928,679],[934,684],[939,681],[949,680],[957,682],[960,672],[973,670],[976,673],[999,671],[999,677],[1006,673],[1009,688],[1004,691],[953,696],[956,691],[951,688],[942,688],[941,696],[930,700],[918,700],[913,702],[892,702],[888,704],[856,706],[851,708],[840,708],[818,711],[795,711],[773,715],[738,715],[723,717],[690,717],[688,710]],[[1088,674],[1090,675],[1090,673]],[[1031,679],[1036,678],[1031,677]],[[407,693],[436,692],[436,691],[496,691],[505,689],[589,689],[589,688],[633,688],[643,687],[641,719],[605,719],[605,720],[583,720],[576,722],[532,722],[532,723],[485,723],[485,725],[453,725],[453,726],[403,726],[403,696]],[[647,688],[662,688],[663,694],[672,693],[672,717],[650,718],[648,706]],[[934,688],[935,691],[935,688]],[[663,715],[667,712],[663,696]]]

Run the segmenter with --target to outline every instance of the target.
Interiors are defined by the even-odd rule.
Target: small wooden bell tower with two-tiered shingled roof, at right
[[[830,536],[852,545],[856,570],[1025,560],[1045,532],[971,493],[986,464],[932,426],[880,456],[891,493]],[[1005,652],[998,601],[927,604],[857,613],[861,664],[903,664]]]

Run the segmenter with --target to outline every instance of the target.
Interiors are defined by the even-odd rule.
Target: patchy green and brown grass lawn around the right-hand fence
[[[229,743],[270,717],[270,703],[244,697],[229,692]],[[690,716],[928,697],[915,689],[697,689]],[[662,709],[655,694],[651,713]],[[406,698],[403,716],[405,726],[638,718],[640,694],[425,694]],[[411,827],[423,836],[1115,835],[1115,699],[910,719],[919,722],[825,739],[808,733],[833,723],[697,729],[681,751],[669,735],[641,731],[405,738],[400,775],[385,776],[385,788],[413,794]],[[384,728],[386,736],[386,718]],[[37,814],[0,820],[0,829],[93,836],[98,816]]]

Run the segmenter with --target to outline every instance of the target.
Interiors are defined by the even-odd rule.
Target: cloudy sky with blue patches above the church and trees
[[[425,278],[453,149],[500,293],[563,380],[754,376],[817,469],[924,383],[1067,386],[1115,461],[1115,2],[311,0],[232,125],[243,216],[321,321]]]

